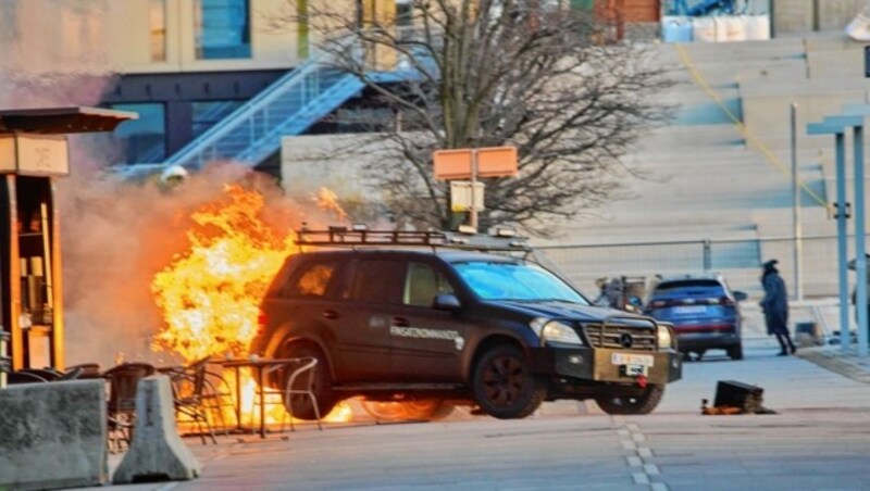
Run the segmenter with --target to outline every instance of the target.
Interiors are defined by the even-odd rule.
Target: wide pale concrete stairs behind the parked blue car
[[[650,131],[623,159],[645,179],[626,179],[619,200],[559,224],[557,238],[538,242],[585,246],[549,252],[592,292],[596,277],[699,270],[699,244],[710,240],[709,266],[724,273],[732,287],[760,295],[762,261],[779,259],[785,276],[794,270],[790,113],[797,102],[797,166],[815,194],[801,191],[799,199],[804,293],[835,295],[836,251],[830,239],[835,222],[823,206],[835,197],[833,137],[809,137],[806,125],[840,113],[845,103],[870,100],[862,58],[856,60],[862,45],[837,32],[680,47],[696,72],[673,45],[656,48],[675,81],[660,95],[663,103],[680,104],[675,119]],[[743,118],[750,138],[699,86],[698,76]],[[642,242],[657,243],[632,246]]]

